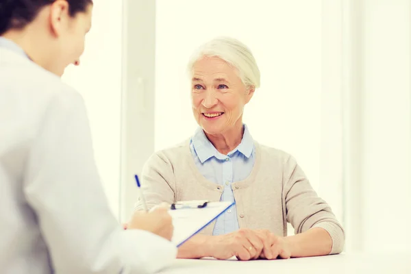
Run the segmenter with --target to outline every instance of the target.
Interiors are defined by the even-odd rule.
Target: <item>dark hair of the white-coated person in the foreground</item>
[[[0,0],[0,35],[9,29],[22,29],[36,18],[38,12],[55,0]],[[85,12],[92,0],[66,0],[71,16]]]

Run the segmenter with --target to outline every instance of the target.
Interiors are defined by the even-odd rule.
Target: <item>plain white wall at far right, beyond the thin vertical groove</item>
[[[364,250],[411,250],[411,3],[364,1]],[[389,235],[383,244],[377,240]]]

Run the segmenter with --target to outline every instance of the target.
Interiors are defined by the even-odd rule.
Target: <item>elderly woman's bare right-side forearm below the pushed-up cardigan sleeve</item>
[[[332,238],[321,227],[314,227],[284,239],[290,247],[292,257],[324,256],[332,250]]]

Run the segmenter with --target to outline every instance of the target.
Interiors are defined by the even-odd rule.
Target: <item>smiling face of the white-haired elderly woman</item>
[[[208,134],[242,127],[242,111],[253,96],[234,69],[218,57],[203,57],[193,66],[192,112]]]

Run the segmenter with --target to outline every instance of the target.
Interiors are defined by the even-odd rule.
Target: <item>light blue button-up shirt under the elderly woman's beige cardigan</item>
[[[227,155],[217,151],[201,128],[192,136],[190,149],[200,173],[210,182],[224,187],[221,201],[234,201],[232,182],[246,179],[256,159],[256,147],[247,125],[244,125],[240,145]],[[216,220],[213,235],[227,234],[238,228],[237,210],[233,206]]]

